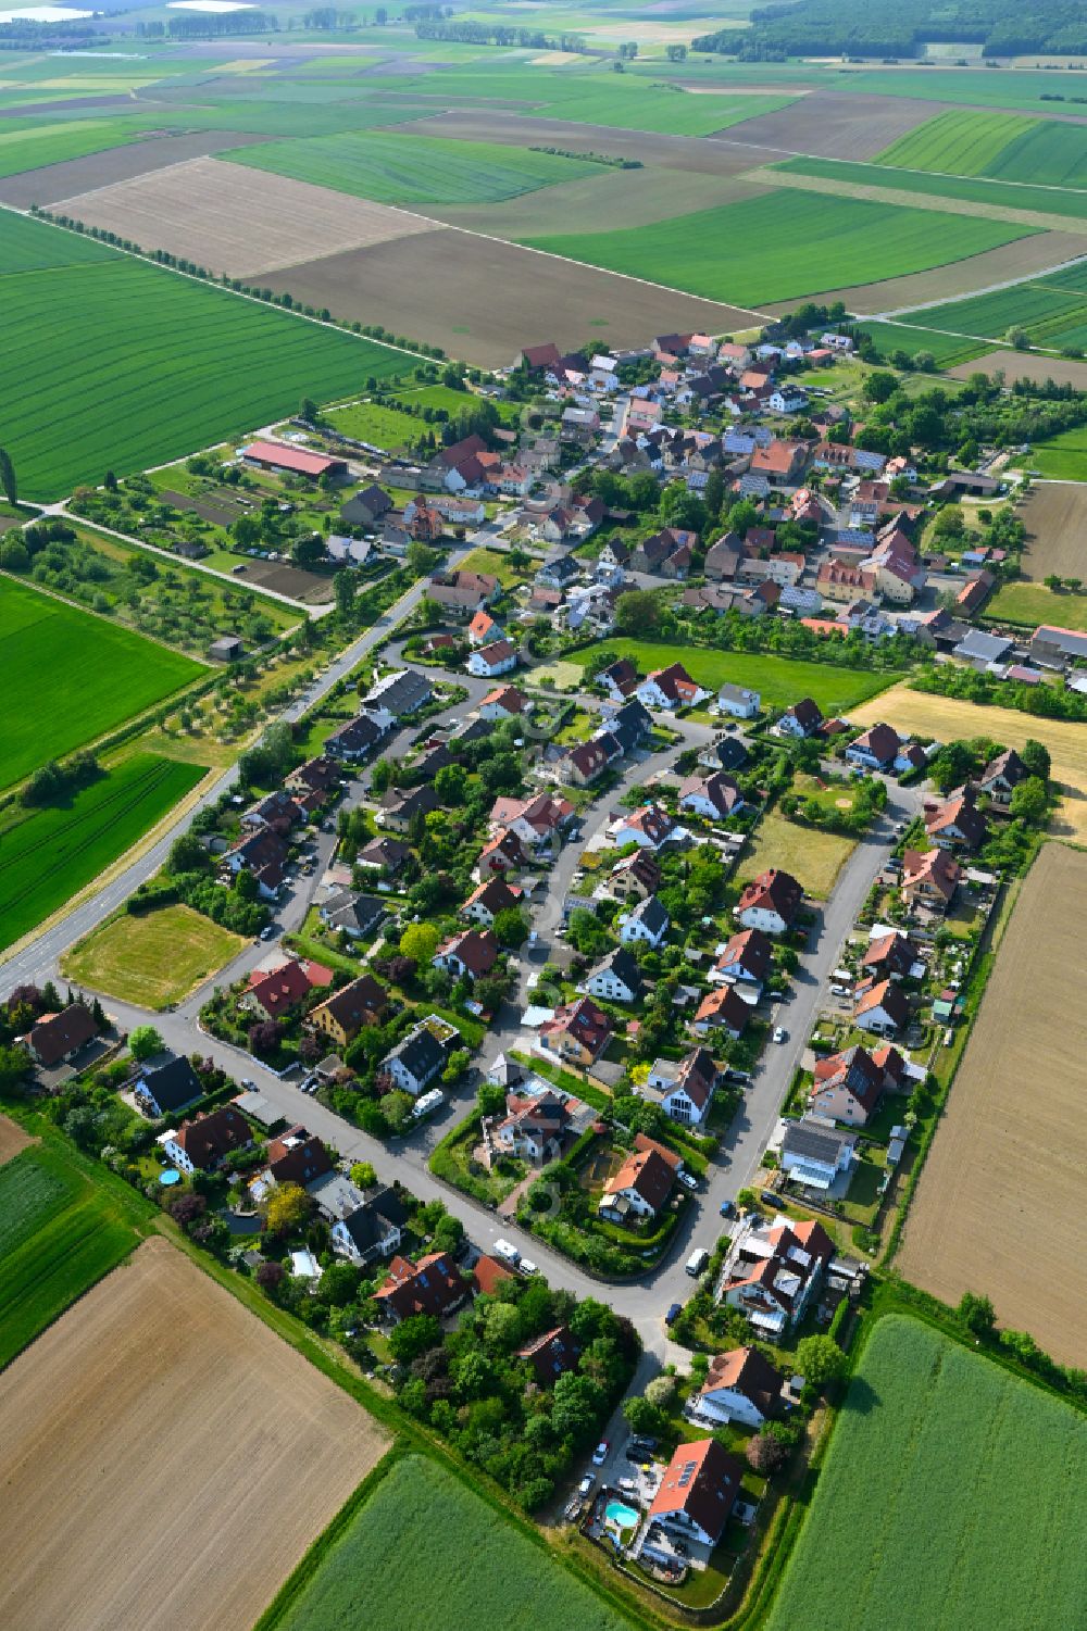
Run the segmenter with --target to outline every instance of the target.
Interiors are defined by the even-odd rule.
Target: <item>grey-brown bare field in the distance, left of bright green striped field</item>
[[[816,91],[788,108],[749,119],[730,140],[787,153],[814,153],[818,158],[875,158],[890,142],[930,117],[932,103],[907,96]]]

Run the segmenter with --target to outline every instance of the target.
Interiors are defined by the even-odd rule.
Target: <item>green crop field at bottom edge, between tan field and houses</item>
[[[320,1548],[320,1541],[318,1541]],[[568,1574],[450,1473],[421,1456],[397,1461],[333,1541],[276,1631],[419,1631],[434,1621],[473,1631],[557,1628],[630,1631]],[[439,1607],[441,1605],[441,1607]]]

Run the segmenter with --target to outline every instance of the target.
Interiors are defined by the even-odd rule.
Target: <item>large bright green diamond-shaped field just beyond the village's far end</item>
[[[625,232],[524,240],[573,261],[759,308],[960,261],[1027,228],[816,192],[779,192]]]

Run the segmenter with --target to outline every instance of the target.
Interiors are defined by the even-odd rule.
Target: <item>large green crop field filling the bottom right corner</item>
[[[767,1631],[1056,1631],[1087,1598],[1087,1421],[904,1316],[863,1349]]]

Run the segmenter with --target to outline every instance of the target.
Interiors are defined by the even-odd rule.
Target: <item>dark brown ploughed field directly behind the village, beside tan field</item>
[[[446,227],[305,261],[264,282],[339,318],[415,334],[480,367],[509,364],[542,334],[565,347],[635,346],[653,334],[721,334],[756,320],[715,300]]]

